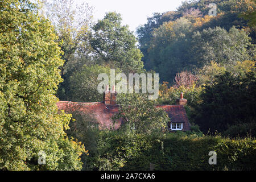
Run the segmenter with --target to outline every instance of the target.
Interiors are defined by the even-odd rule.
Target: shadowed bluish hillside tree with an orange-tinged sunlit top
[[[158,72],[162,81],[172,82],[177,72],[188,68],[191,27],[191,22],[180,18],[175,22],[164,22],[152,32],[145,64]]]

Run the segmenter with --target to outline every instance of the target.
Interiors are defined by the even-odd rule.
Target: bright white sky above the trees
[[[75,3],[86,2],[94,7],[94,21],[102,19],[105,13],[115,11],[120,13],[123,24],[128,24],[131,31],[140,24],[147,22],[147,16],[153,13],[164,13],[176,10],[185,0],[74,0]]]

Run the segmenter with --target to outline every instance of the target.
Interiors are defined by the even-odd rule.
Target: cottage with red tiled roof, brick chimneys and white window
[[[117,92],[114,87],[112,90],[106,90],[104,92],[104,98],[102,102],[69,102],[69,101],[59,101],[57,107],[60,110],[64,110],[65,113],[80,113],[91,114],[96,118],[100,125],[100,128],[118,129],[121,126],[122,119],[115,122],[113,126],[112,116],[118,113],[119,106],[117,105]],[[187,118],[187,114],[184,109],[184,105],[187,104],[187,100],[183,98],[183,93],[181,93],[180,98],[177,99],[176,105],[156,105],[158,108],[163,108],[168,117],[171,119],[168,124],[170,131],[188,131],[190,129],[190,124]]]

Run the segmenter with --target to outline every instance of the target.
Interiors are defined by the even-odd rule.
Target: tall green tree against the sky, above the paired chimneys
[[[107,13],[93,26],[91,45],[106,64],[118,67],[123,72],[141,72],[142,53],[137,48],[137,39],[127,26],[121,25],[121,15]]]

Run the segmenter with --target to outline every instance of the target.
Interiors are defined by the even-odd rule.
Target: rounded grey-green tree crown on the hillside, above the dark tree
[[[192,36],[192,60],[197,67],[201,67],[209,61],[221,64],[235,64],[236,61],[250,60],[247,51],[250,46],[250,38],[245,31],[235,27],[226,31],[223,28],[208,28],[202,32],[194,32]]]

